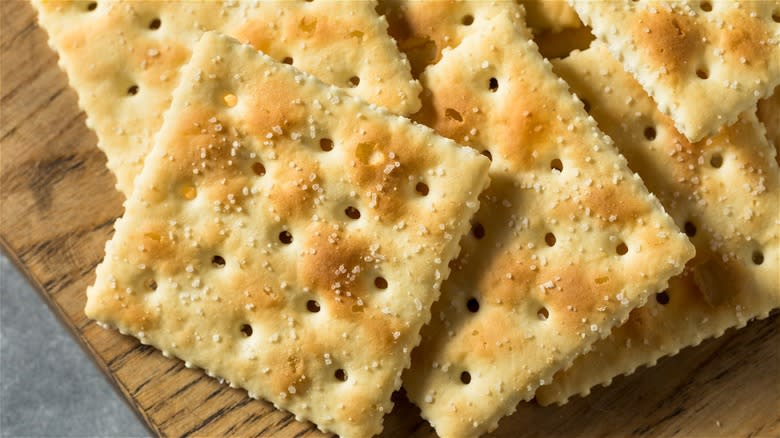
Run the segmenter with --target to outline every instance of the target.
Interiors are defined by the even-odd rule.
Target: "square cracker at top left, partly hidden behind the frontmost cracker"
[[[207,30],[393,112],[420,106],[419,84],[375,2],[32,2],[126,196],[171,104],[178,71]]]

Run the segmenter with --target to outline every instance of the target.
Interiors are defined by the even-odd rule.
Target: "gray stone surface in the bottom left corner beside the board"
[[[0,436],[149,436],[146,426],[0,252]]]

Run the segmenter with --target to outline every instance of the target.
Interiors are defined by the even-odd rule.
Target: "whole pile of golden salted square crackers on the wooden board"
[[[33,4],[127,198],[87,315],[323,431],[780,307],[780,2]]]

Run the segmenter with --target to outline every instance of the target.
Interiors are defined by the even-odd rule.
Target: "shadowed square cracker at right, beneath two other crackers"
[[[542,404],[588,394],[780,307],[780,169],[755,113],[692,144],[603,45],[554,65],[691,237],[696,257],[667,290],[540,388]]]

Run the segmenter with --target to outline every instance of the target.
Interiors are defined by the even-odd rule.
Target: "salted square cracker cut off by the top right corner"
[[[780,1],[572,3],[690,141],[780,84]]]

